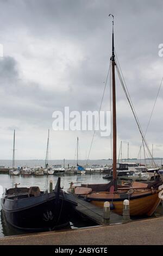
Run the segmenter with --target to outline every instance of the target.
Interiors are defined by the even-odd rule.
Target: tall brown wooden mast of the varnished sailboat
[[[117,127],[116,127],[116,88],[115,88],[115,53],[114,53],[114,16],[112,16],[112,137],[113,137],[113,157],[112,157],[112,176],[114,180],[114,190],[117,191]]]

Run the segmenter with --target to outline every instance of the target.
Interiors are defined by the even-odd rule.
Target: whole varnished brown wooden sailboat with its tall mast
[[[115,87],[115,50],[114,50],[114,16],[112,21],[112,132],[113,132],[113,180],[109,184],[82,185],[75,188],[75,193],[80,194],[86,200],[99,207],[109,201],[111,209],[117,214],[123,213],[123,200],[129,199],[130,215],[151,216],[160,203],[159,185],[162,182],[155,181],[155,184],[148,185],[140,182],[133,182],[130,186],[117,185],[117,131],[116,131],[116,87]],[[110,16],[109,15],[109,16]]]

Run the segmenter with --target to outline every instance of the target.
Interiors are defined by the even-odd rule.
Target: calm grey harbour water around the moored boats
[[[44,166],[45,161],[43,160],[18,160],[15,161],[15,166]],[[67,164],[70,164],[70,166],[75,166],[76,161],[74,160],[66,160],[65,166]],[[161,164],[161,161],[156,162],[159,166]],[[61,160],[54,160],[49,161],[49,165],[52,164],[63,164],[63,161]],[[81,160],[79,161],[79,164],[84,165],[85,161]],[[111,164],[111,161],[106,160],[92,160],[89,161],[89,164]],[[11,167],[12,161],[11,160],[0,160],[0,166],[5,167]],[[61,174],[61,187],[65,191],[67,191],[67,188],[70,186],[70,182],[73,181],[76,184],[82,183],[106,183],[107,181],[103,179],[103,175],[105,174],[84,174],[84,175],[68,175],[68,174]],[[58,176],[57,175],[43,175],[43,176],[11,176],[8,174],[0,174],[0,185],[3,187],[3,191],[5,188],[11,188],[14,187],[15,183],[20,183],[20,186],[30,187],[30,186],[39,186],[41,190],[49,190],[49,181],[53,180],[53,187],[57,183]],[[0,205],[1,210],[1,205]],[[156,215],[160,215],[160,209],[158,209]],[[91,223],[90,221],[83,221],[81,218],[77,217],[72,220],[71,227],[70,228],[79,228],[79,227],[87,227],[89,225],[95,225],[95,223]],[[1,211],[1,217],[0,217],[0,237],[7,236],[7,235],[16,235],[16,234],[22,234],[24,231],[17,230],[13,227],[11,227],[8,223],[5,222],[3,212]]]

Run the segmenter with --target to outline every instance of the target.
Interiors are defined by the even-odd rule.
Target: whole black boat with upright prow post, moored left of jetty
[[[60,188],[60,178],[53,192],[39,187],[15,187],[1,199],[4,216],[12,226],[24,230],[54,230],[70,223],[77,206],[75,199]]]

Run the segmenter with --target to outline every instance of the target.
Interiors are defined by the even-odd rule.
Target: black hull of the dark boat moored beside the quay
[[[22,200],[2,199],[1,204],[12,226],[24,230],[53,230],[69,224],[76,205],[69,199],[63,192],[59,198],[53,192]]]

